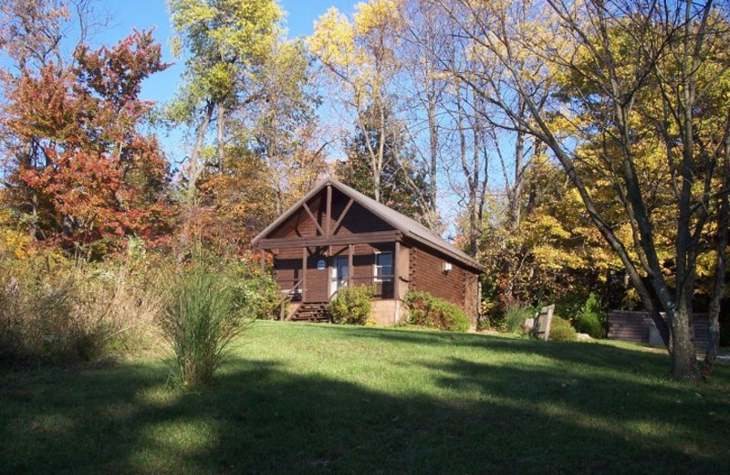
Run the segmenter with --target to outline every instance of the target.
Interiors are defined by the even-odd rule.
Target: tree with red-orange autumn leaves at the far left
[[[9,84],[9,201],[37,238],[78,246],[159,235],[167,162],[138,130],[153,105],[138,96],[142,80],[167,67],[161,58],[151,32],[135,32],[115,47],[82,45],[74,65],[48,62]]]

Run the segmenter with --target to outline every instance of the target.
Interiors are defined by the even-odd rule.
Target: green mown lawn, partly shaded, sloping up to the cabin
[[[730,473],[709,384],[617,343],[257,322],[210,389],[154,358],[0,375],[4,473]]]

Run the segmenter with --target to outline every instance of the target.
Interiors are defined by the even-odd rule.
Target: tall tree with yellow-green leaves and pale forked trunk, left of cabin
[[[208,126],[216,121],[216,165],[224,167],[227,114],[241,101],[257,99],[252,82],[276,40],[282,12],[274,0],[169,0],[168,8],[178,35],[173,51],[188,53],[168,115],[195,129],[187,169],[187,195],[193,200],[198,178],[210,164],[201,161]]]

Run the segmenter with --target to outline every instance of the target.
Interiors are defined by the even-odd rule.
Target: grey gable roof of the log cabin
[[[297,212],[299,207],[308,202],[313,196],[321,192],[327,185],[332,185],[333,188],[339,190],[339,192],[343,195],[352,198],[355,203],[364,207],[373,215],[378,216],[383,221],[391,225],[391,227],[395,228],[397,231],[400,231],[403,237],[409,237],[412,240],[417,241],[424,246],[427,246],[428,248],[433,248],[439,252],[442,252],[443,254],[461,262],[468,268],[480,271],[484,270],[484,267],[482,267],[481,264],[474,260],[474,258],[465,254],[464,251],[455,248],[453,244],[448,242],[443,237],[435,234],[428,227],[423,226],[421,223],[415,221],[408,216],[402,215],[391,207],[385,206],[382,203],[375,201],[374,199],[370,198],[370,196],[363,195],[359,191],[350,188],[348,185],[339,183],[339,181],[331,177],[319,183],[319,185],[315,186],[314,189],[312,189],[307,195],[297,201],[294,206],[291,206],[284,214],[276,218],[276,221],[267,226],[266,229],[258,234],[258,236],[254,237],[253,241],[251,241],[252,244],[257,243],[260,239],[266,237],[266,235],[276,229],[276,227],[279,227],[289,217],[293,216]]]

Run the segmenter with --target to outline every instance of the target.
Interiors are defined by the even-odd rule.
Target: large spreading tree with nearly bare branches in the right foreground
[[[652,314],[672,356],[673,375],[694,377],[690,322],[697,261],[706,252],[701,243],[708,222],[722,216],[714,212],[723,207],[718,198],[727,193],[720,186],[727,183],[724,144],[730,127],[727,107],[716,101],[727,97],[722,96],[726,5],[630,0],[439,3],[468,38],[464,47],[474,48],[474,54],[487,51],[504,71],[495,75],[485,66],[454,74],[471,83],[485,80],[490,86],[483,91],[485,100],[499,107],[514,128],[545,143]],[[513,21],[514,8],[527,12],[527,21]],[[577,87],[566,90],[571,81]],[[721,94],[715,96],[718,89]],[[656,92],[663,113],[652,133],[662,139],[665,170],[671,176],[665,185],[672,190],[677,224],[669,272],[660,259],[658,216],[648,206],[654,184],[641,175],[637,155],[646,137],[637,121],[639,105]],[[527,118],[509,107],[509,97],[524,100]],[[724,112],[714,114],[717,110]],[[601,142],[606,145],[602,149],[587,146]],[[599,151],[598,160],[591,162]],[[588,183],[599,178],[610,183],[620,203],[621,217],[631,227],[628,237],[620,236],[619,223],[590,192]],[[726,233],[722,220],[718,229]],[[718,279],[722,273],[716,273]],[[722,290],[724,282],[716,282],[715,291]]]

